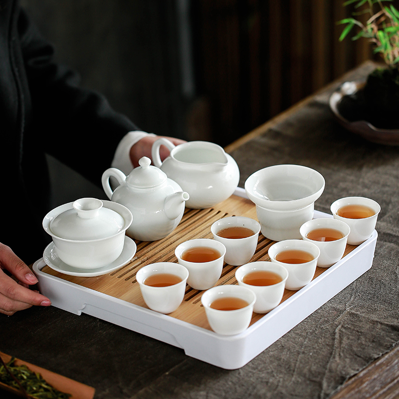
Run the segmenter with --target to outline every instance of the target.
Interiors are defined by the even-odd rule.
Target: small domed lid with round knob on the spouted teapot
[[[140,158],[139,165],[126,178],[129,186],[145,189],[159,186],[168,179],[165,172],[156,166],[151,166],[151,159],[148,157]]]

